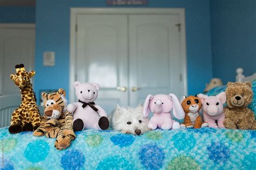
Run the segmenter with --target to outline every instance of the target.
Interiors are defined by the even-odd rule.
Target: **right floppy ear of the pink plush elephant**
[[[181,104],[178,100],[178,97],[172,93],[169,94],[169,98],[172,101],[173,104],[173,116],[176,117],[177,119],[184,119],[185,117],[185,112],[183,108],[181,107]]]

